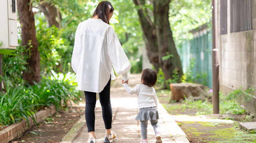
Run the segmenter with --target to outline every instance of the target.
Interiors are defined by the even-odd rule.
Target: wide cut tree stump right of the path
[[[211,95],[205,91],[205,87],[200,84],[193,83],[177,83],[170,84],[171,99],[180,101],[182,99],[205,100],[211,98]]]

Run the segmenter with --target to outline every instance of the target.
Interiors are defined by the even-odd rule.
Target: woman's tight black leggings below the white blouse
[[[110,82],[111,77],[103,91],[99,93],[100,104],[102,106],[102,117],[106,129],[111,129],[112,124],[112,107],[110,102]],[[95,105],[96,105],[96,93],[85,92],[85,120],[88,132],[95,131]]]

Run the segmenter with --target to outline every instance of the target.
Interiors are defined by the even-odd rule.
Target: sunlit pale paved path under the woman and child
[[[140,84],[140,74],[131,74],[129,76],[129,85],[134,87]],[[111,85],[111,104],[113,108],[112,129],[117,133],[115,143],[139,143],[141,141],[141,127],[139,121],[135,120],[138,114],[138,103],[136,95],[129,95],[121,85],[121,77]],[[95,134],[97,143],[103,143],[105,128],[102,119],[102,110],[99,100],[95,109]],[[179,128],[177,123],[170,117],[164,107],[159,104],[159,124],[161,128],[161,136],[163,143],[189,143],[185,133]],[[155,135],[152,125],[149,122],[148,142],[155,143]],[[61,143],[87,143],[88,131],[86,127],[85,117],[83,116],[77,124],[75,124],[70,132],[65,135]]]

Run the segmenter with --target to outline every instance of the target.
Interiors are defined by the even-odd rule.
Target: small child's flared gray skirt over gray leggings
[[[139,109],[139,113],[135,118],[135,120],[140,120],[140,121],[158,120],[158,119],[159,119],[159,115],[156,110],[156,107]]]

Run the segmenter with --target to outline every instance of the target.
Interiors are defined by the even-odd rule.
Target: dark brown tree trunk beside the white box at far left
[[[31,56],[27,59],[28,68],[23,73],[23,79],[28,81],[30,85],[33,85],[33,81],[39,82],[40,76],[40,56],[38,51],[38,41],[36,39],[35,19],[30,8],[30,0],[17,0],[19,21],[21,22],[21,38],[22,45],[26,48],[31,48]],[[31,40],[31,44],[28,43]],[[28,53],[24,53],[28,54]]]

